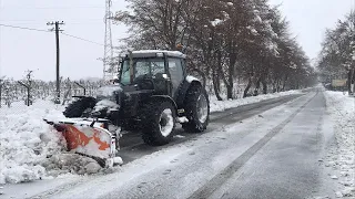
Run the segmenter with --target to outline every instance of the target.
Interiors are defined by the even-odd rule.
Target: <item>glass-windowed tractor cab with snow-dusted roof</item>
[[[133,51],[121,62],[119,82],[126,92],[152,91],[176,98],[185,73],[185,55],[179,51]]]

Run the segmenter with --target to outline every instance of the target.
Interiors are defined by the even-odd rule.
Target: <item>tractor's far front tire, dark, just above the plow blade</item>
[[[63,112],[65,117],[77,118],[82,117],[83,113],[89,108],[93,108],[97,104],[97,100],[93,97],[82,97],[73,103],[69,104],[69,106]]]

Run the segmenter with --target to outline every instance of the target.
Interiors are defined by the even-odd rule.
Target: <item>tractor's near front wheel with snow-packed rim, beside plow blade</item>
[[[151,102],[143,107],[142,138],[145,144],[162,146],[171,142],[176,111],[170,102]]]

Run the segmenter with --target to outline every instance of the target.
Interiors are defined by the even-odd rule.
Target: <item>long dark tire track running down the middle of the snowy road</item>
[[[255,145],[248,148],[244,154],[231,163],[220,174],[214,176],[207,184],[193,192],[189,199],[201,199],[209,198],[215,190],[217,190],[224,182],[227,181],[240,168],[244,166],[248,159],[251,159],[263,146],[265,146],[270,139],[277,135],[290,122],[292,122],[295,116],[310,104],[316,96],[316,94],[310,98],[304,105],[302,105],[297,111],[295,111],[288,118],[282,122],[280,125],[274,127],[268,134],[266,134],[262,139],[260,139]]]

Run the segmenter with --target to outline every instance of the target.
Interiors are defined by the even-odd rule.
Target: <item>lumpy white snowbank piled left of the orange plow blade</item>
[[[42,118],[60,115],[50,102],[33,106],[14,103],[0,109],[0,184],[39,179],[45,168],[41,163],[61,150],[60,135]]]

